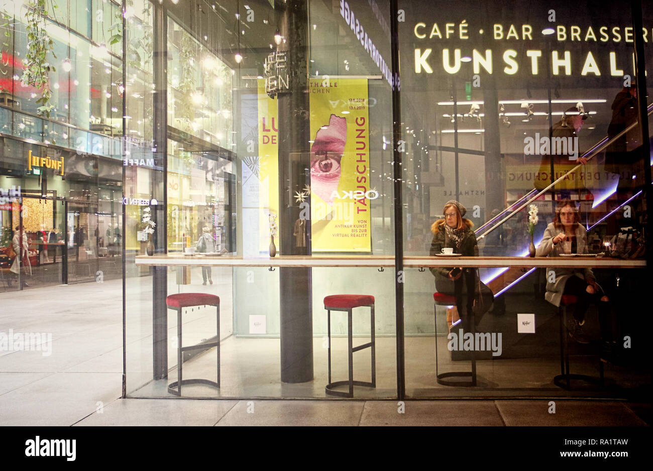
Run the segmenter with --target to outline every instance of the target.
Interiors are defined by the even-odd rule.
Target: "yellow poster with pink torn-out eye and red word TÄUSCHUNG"
[[[370,252],[366,79],[310,80],[311,250]]]

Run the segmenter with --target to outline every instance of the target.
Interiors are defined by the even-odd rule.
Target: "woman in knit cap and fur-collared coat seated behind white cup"
[[[467,209],[455,200],[449,200],[443,209],[445,219],[436,220],[431,226],[433,241],[430,255],[441,254],[442,249],[451,247],[455,254],[463,256],[479,256],[476,234],[471,230],[473,222],[463,216]],[[431,273],[436,277],[436,290],[442,294],[456,297],[456,308],[460,320],[460,328],[469,328],[468,322],[474,301],[476,284],[475,270],[470,268],[432,267]],[[463,279],[467,286],[463,294]],[[478,322],[478,319],[475,320]]]

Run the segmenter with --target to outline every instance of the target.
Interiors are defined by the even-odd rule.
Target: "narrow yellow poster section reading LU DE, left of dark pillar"
[[[279,124],[277,100],[265,93],[265,79],[259,85],[259,250],[270,247],[268,214],[279,215]],[[279,234],[279,219],[276,219]]]

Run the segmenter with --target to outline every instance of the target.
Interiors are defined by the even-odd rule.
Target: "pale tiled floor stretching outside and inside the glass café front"
[[[40,351],[0,352],[1,425],[645,425],[651,416],[650,404],[556,398],[560,389],[549,385],[556,372],[555,358],[479,361],[479,388],[475,392],[466,388],[470,397],[474,393],[487,396],[488,391],[499,397],[510,376],[513,382],[522,382],[524,388],[535,387],[552,399],[366,401],[396,394],[392,337],[377,338],[377,388],[357,388],[357,400],[324,399],[326,350],[322,339],[316,339],[314,345],[315,379],[289,385],[281,384],[278,378],[278,339],[235,337],[223,343],[220,393],[222,397],[259,399],[172,399],[165,391],[168,380],[148,379],[151,361],[136,365],[143,371],[145,385],[134,388],[142,395],[160,395],[161,399],[119,399],[123,371],[121,296],[120,280],[0,294],[0,331],[52,334],[50,355]],[[150,299],[143,296],[144,303]],[[228,315],[229,309],[221,314]],[[127,346],[151,348],[151,324],[139,322],[142,325],[130,329]],[[189,322],[201,323],[202,316]],[[407,395],[413,399],[451,395],[451,388],[434,386],[433,337],[406,340]],[[343,354],[343,341],[334,339],[336,355]],[[174,349],[170,350],[170,365],[174,365]],[[355,358],[355,371],[369,375],[369,354],[360,352]],[[334,378],[346,374],[342,359],[334,362]],[[200,377],[204,372],[214,372],[214,350],[187,365],[187,371]],[[441,368],[460,365],[468,363],[445,359]],[[128,389],[137,378],[128,374]],[[174,369],[170,378],[176,378]],[[534,378],[535,383],[530,384]],[[191,388],[187,391],[193,393]],[[201,391],[197,395],[217,397],[211,388]],[[261,399],[279,395],[302,399]],[[306,400],[311,397],[319,400]],[[551,401],[555,403],[554,413]]]

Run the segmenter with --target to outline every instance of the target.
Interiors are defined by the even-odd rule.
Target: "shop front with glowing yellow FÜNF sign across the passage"
[[[2,140],[3,289],[120,278],[122,162]]]

